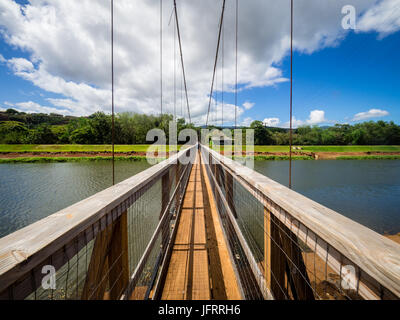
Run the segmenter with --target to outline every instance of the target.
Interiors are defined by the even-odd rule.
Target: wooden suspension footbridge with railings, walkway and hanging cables
[[[224,8],[225,0],[207,125]],[[176,1],[173,12],[190,118]],[[291,15],[293,43],[293,1]],[[162,28],[160,35],[162,49]],[[160,57],[162,90],[162,50]],[[399,299],[400,245],[290,186],[208,143],[171,152],[0,239],[0,299]]]

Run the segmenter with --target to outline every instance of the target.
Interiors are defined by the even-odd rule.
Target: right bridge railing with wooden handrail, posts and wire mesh
[[[247,299],[398,299],[400,246],[201,145]]]

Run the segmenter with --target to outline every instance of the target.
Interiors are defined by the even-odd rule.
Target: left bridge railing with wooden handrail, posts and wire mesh
[[[0,299],[147,299],[195,146],[0,239]]]

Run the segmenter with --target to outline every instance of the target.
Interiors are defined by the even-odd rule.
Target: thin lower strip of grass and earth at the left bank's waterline
[[[162,160],[162,158],[160,158]],[[0,159],[1,163],[50,163],[50,162],[80,162],[80,161],[110,161],[112,157],[19,157]],[[115,160],[144,161],[144,156],[115,157]]]

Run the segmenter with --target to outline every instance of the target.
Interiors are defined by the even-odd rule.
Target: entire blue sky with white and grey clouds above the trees
[[[116,112],[159,114],[160,1],[114,2]],[[162,3],[163,109],[188,120],[173,1]],[[290,0],[239,0],[236,106],[235,5],[226,0],[209,123],[232,125],[236,108],[239,125],[288,127]],[[206,123],[221,7],[177,0],[197,125]],[[110,0],[1,0],[0,110],[110,113],[110,44]],[[294,127],[400,124],[399,51],[400,0],[294,0]]]

